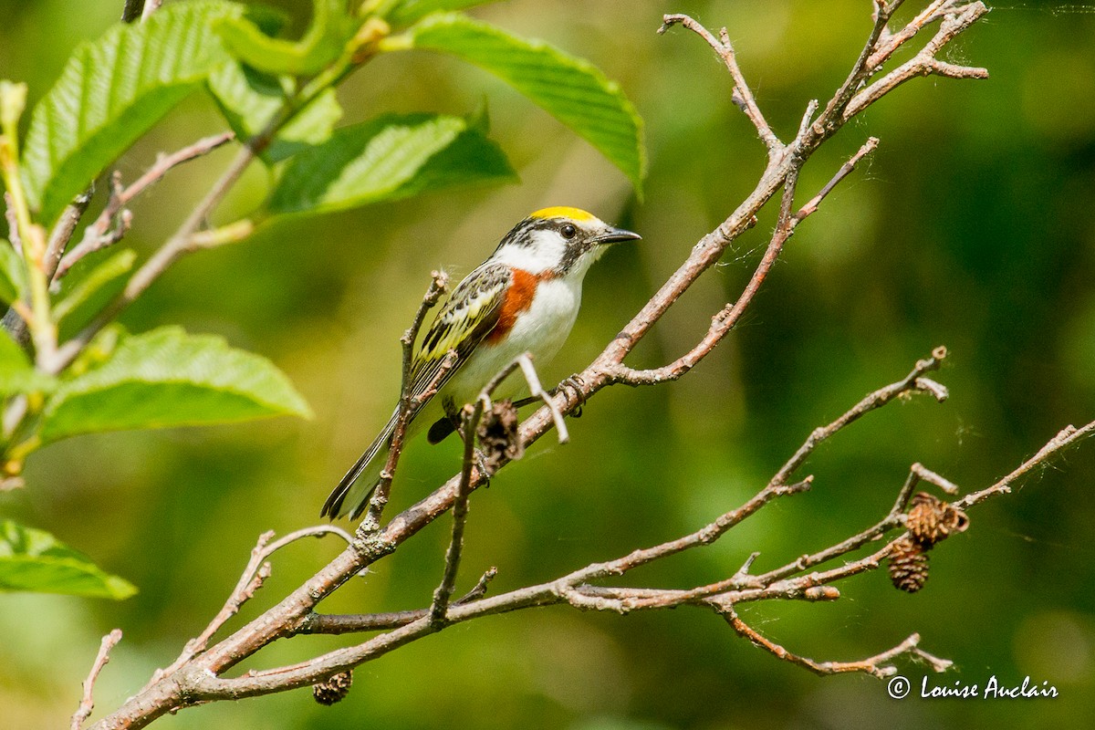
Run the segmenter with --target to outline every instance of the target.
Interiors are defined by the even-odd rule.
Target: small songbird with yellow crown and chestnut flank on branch
[[[554,357],[578,315],[586,271],[608,244],[638,237],[577,208],[544,208],[515,225],[460,282],[415,348],[414,396],[430,386],[450,350],[457,359],[415,413],[405,438],[429,426],[429,442],[441,441],[456,430],[460,408],[515,358],[530,352],[543,364]],[[514,395],[519,383],[510,387],[497,395]],[[365,511],[388,461],[397,417],[399,409],[327,497],[321,517],[356,519]]]

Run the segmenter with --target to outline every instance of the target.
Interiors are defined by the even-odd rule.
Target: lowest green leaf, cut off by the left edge
[[[137,588],[104,572],[48,532],[0,521],[0,590],[65,593],[120,601]]]

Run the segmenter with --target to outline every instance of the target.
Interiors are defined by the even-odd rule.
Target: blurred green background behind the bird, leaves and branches
[[[310,3],[283,0],[307,20]],[[921,3],[910,2],[908,14]],[[0,76],[32,102],[72,46],[97,36],[122,1],[0,0]],[[695,372],[657,389],[612,389],[472,500],[458,590],[498,567],[498,591],[556,577],[694,530],[744,501],[809,430],[902,376],[944,344],[944,405],[894,404],[821,449],[814,489],[773,505],[713,547],[635,572],[689,587],[782,565],[872,523],[920,461],[983,487],[1065,424],[1095,418],[1095,14],[1086,7],[999,8],[947,51],[987,66],[984,82],[918,79],[842,130],[807,166],[812,195],[871,135],[877,153],[804,223],[745,323]],[[491,77],[426,54],[382,57],[342,90],[347,120],[383,111],[463,114],[487,101],[494,136],[522,182],[280,222],[244,244],[186,258],[123,317],[134,331],[181,323],[274,359],[311,403],[312,421],[85,437],[36,454],[27,487],[0,511],[90,553],[141,592],[112,603],[0,594],[0,725],[67,727],[99,638],[125,631],[95,695],[134,694],[220,607],[258,533],[316,522],[332,484],[387,418],[397,337],[439,266],[466,274],[528,211],[585,207],[644,242],[587,279],[564,352],[542,374],[579,370],[692,244],[751,189],[763,148],[730,104],[723,67],[696,37],[655,34],[665,12],[726,25],[757,97],[789,137],[806,102],[828,99],[869,26],[865,0],[511,0],[476,15],[543,37],[618,80],[646,119],[650,173],[636,202],[623,175]],[[120,161],[131,179],[159,151],[223,125],[195,96]],[[134,208],[131,244],[149,251],[219,174],[221,151],[173,173]],[[253,170],[219,215],[265,189]],[[740,290],[772,218],[728,253],[631,360],[684,351]],[[394,508],[457,465],[458,447],[415,443]],[[308,691],[165,717],[189,728],[1061,728],[1095,720],[1095,444],[971,512],[933,552],[926,588],[896,591],[883,571],[840,584],[831,604],[748,605],[768,637],[818,660],[851,660],[912,631],[955,660],[930,682],[1048,681],[1053,699],[890,699],[866,676],[817,677],[738,639],[700,610],[620,617],[526,611],[456,626],[361,667],[349,697]],[[423,606],[449,520],[439,520],[326,611]],[[309,542],[278,554],[253,616],[333,556]],[[233,626],[239,625],[233,624]],[[304,659],[348,639],[300,637],[251,667]],[[903,662],[920,686],[926,668]],[[914,690],[915,694],[915,690]],[[100,714],[96,712],[95,717]]]

